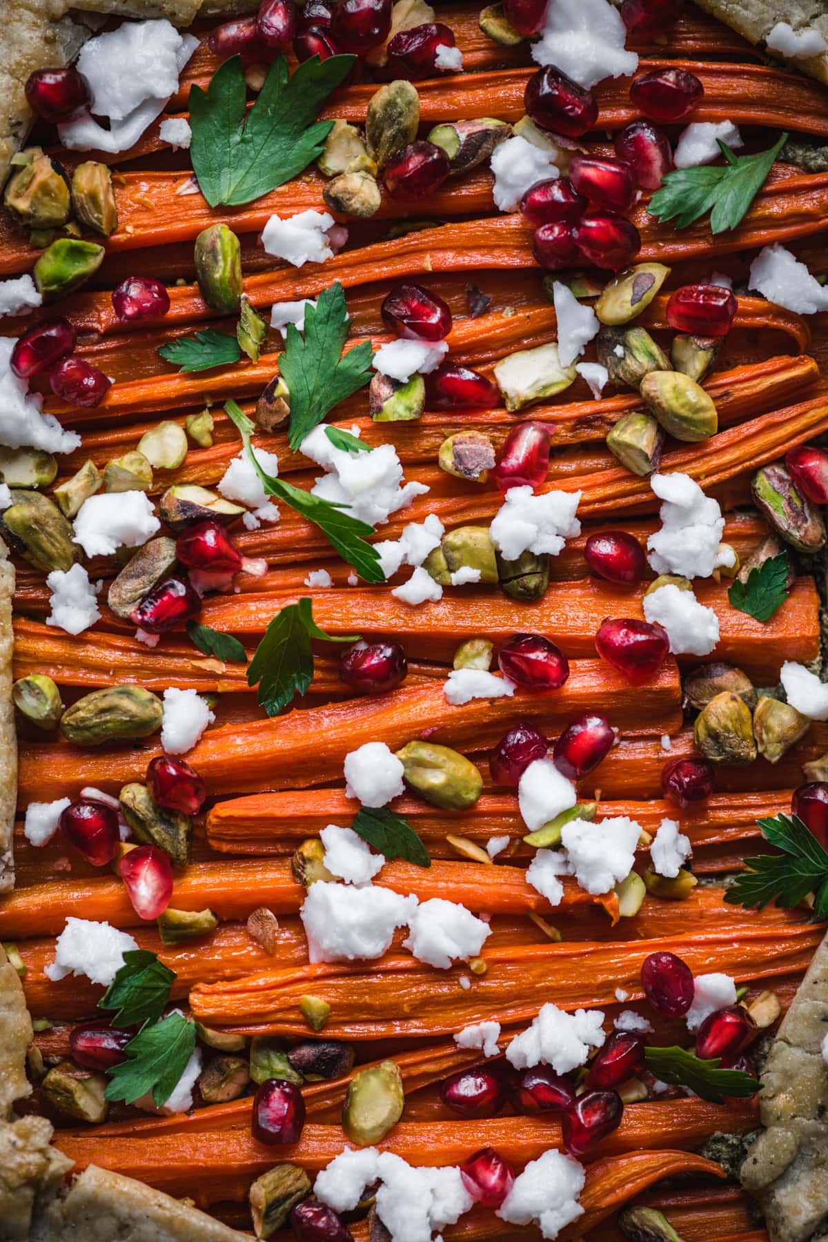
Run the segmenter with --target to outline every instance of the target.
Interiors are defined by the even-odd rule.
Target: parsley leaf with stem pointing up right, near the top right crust
[[[782,134],[773,147],[756,155],[734,155],[730,147],[719,139],[721,154],[727,161],[722,168],[705,165],[668,173],[647,210],[662,222],[674,220],[677,229],[686,229],[705,211],[710,211],[711,232],[735,229],[762,188],[787,137]]]

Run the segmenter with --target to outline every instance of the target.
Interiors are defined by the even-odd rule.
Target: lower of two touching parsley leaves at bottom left
[[[128,1061],[108,1069],[107,1099],[133,1104],[151,1090],[156,1108],[170,1098],[195,1048],[195,1023],[180,1013],[144,1026],[124,1052]]]

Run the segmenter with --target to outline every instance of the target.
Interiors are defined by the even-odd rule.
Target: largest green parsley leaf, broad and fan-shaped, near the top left
[[[220,202],[237,206],[269,194],[322,154],[333,122],[314,120],[354,60],[312,56],[288,77],[287,61],[279,56],[250,113],[240,56],[216,70],[206,92],[190,87],[190,155],[211,207]]]

